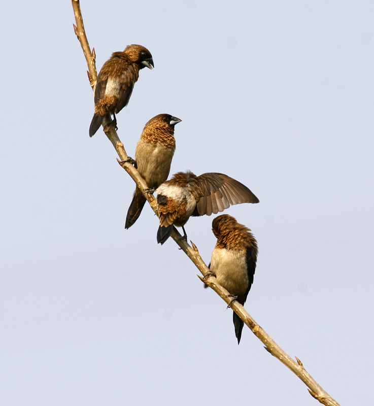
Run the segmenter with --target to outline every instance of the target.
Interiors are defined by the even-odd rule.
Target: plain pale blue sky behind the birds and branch
[[[339,403],[371,406],[374,4],[81,2],[97,68],[142,44],[117,116],[129,155],[159,113],[172,173],[222,172],[258,205],[226,211],[259,257],[246,309]],[[202,289],[99,130],[66,2],[7,2],[3,86],[0,405],[317,405]],[[186,231],[207,262],[214,216]]]

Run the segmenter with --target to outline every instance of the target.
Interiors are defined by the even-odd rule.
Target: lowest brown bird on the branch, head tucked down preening
[[[222,214],[213,220],[212,231],[217,243],[212,252],[210,270],[216,275],[217,282],[233,296],[232,300],[236,299],[244,304],[253,284],[257,241],[249,228],[228,214]],[[244,323],[235,312],[232,320],[239,345]]]

